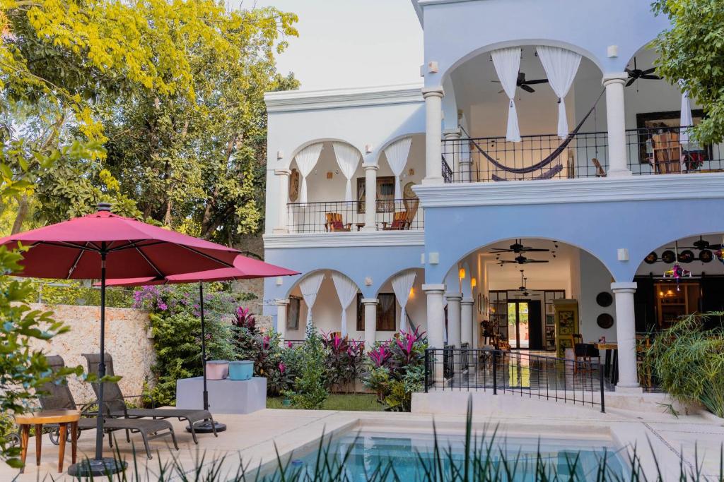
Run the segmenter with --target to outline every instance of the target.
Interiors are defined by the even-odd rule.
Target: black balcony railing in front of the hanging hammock
[[[557,134],[445,139],[442,155],[452,163],[445,182],[522,181],[602,177],[607,171],[607,132],[578,132],[565,143]]]

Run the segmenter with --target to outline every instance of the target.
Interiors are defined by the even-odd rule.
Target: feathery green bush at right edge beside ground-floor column
[[[646,353],[660,386],[681,403],[701,403],[724,417],[724,329],[707,328],[710,317],[691,314],[663,330]]]

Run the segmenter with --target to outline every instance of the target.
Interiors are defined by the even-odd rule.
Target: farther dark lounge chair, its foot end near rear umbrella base
[[[101,356],[98,353],[83,353],[83,356],[88,361],[88,373],[98,375],[98,362],[101,361]],[[106,353],[106,374],[113,375],[113,358]],[[98,384],[93,384],[93,391],[98,396]],[[209,410],[187,410],[182,408],[128,408],[125,402],[126,398],[140,397],[140,395],[132,395],[125,397],[121,392],[121,387],[116,382],[105,382],[103,385],[103,400],[104,405],[109,408],[109,413],[114,417],[125,417],[125,418],[178,418],[180,421],[188,421],[193,437],[193,442],[198,444],[196,439],[196,431],[194,424],[201,421],[210,421],[211,429],[216,434],[216,426],[214,425],[214,417],[211,416]]]

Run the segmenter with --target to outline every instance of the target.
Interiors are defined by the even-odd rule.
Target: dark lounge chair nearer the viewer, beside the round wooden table
[[[47,359],[53,371],[58,371],[65,366],[63,358],[60,356],[49,356]],[[95,416],[98,412],[95,410],[93,412],[88,411],[88,408],[96,403],[87,403],[78,408],[65,380],[59,383],[48,382],[43,385],[41,391],[43,392],[43,395],[40,397],[40,403],[43,410],[58,410],[62,408],[80,410],[83,416],[81,416],[78,421],[78,431],[96,430]],[[149,459],[153,458],[151,456],[151,449],[148,447],[149,440],[170,434],[171,439],[174,442],[174,447],[176,447],[177,450],[179,449],[179,446],[176,443],[174,428],[171,423],[165,420],[138,420],[134,418],[104,417],[103,423],[104,432],[109,434],[108,442],[111,447],[113,447],[113,437],[111,436],[111,432],[123,430],[126,432],[127,442],[130,442],[130,434],[140,434],[140,436],[143,437],[143,445],[146,447],[146,456],[148,456]],[[56,425],[49,425],[49,427],[54,429],[54,432],[59,429]],[[53,440],[54,432],[51,432],[51,441],[57,445],[57,437]]]

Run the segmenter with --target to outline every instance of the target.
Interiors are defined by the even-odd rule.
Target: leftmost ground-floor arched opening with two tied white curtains
[[[319,284],[311,283],[306,285],[305,280],[321,276]],[[287,305],[287,324],[285,327],[285,339],[303,340],[306,336],[306,320],[308,319],[309,306],[307,300],[313,296],[311,307],[311,322],[320,332],[342,332],[342,302],[337,292],[337,285],[334,283],[334,276],[342,278],[342,283],[351,283],[355,294],[346,311],[346,328],[348,337],[359,340],[364,335],[364,330],[357,330],[358,298],[361,295],[358,285],[350,277],[336,270],[316,270],[301,277],[287,293],[289,304]],[[308,291],[303,292],[303,289]],[[315,291],[316,290],[316,291]],[[347,298],[345,294],[342,298]],[[277,328],[278,329],[278,328]]]

